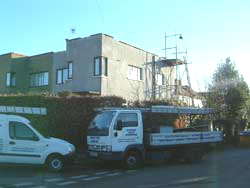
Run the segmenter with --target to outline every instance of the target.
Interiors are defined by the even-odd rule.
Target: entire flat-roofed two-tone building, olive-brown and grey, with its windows
[[[66,50],[0,55],[0,93],[93,93],[128,101],[173,95],[174,69],[150,52],[95,34],[66,39]]]

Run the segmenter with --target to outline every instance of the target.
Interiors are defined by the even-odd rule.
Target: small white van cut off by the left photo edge
[[[41,135],[28,119],[0,114],[0,164],[47,165],[59,171],[74,152],[72,144]]]

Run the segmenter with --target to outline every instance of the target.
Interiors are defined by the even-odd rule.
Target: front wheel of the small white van
[[[48,169],[52,172],[58,172],[64,167],[63,157],[60,155],[51,155],[46,161]]]

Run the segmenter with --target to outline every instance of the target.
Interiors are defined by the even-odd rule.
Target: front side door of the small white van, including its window
[[[41,164],[46,143],[26,124],[9,122],[7,156],[9,163]]]

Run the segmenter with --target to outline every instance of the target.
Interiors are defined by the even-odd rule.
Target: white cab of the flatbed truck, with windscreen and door
[[[88,129],[89,156],[122,160],[126,151],[143,149],[143,125],[138,110],[99,112]]]

